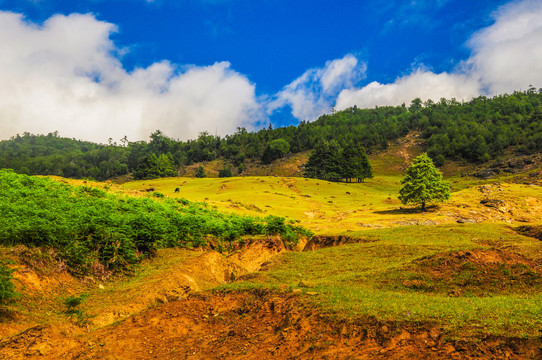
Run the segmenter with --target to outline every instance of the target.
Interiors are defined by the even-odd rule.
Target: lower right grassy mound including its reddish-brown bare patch
[[[363,230],[357,244],[284,253],[227,285],[291,289],[339,317],[439,324],[449,336],[537,336],[542,243],[503,224]]]

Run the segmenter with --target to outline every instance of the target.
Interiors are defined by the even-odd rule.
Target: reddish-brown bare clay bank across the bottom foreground
[[[80,333],[80,332],[79,332]],[[206,292],[76,335],[36,327],[0,359],[541,359],[542,340],[446,341],[421,323],[332,319],[274,292]]]

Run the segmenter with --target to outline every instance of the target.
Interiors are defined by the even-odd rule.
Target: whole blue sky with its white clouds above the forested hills
[[[186,139],[542,87],[534,0],[0,0],[0,16],[3,138]]]

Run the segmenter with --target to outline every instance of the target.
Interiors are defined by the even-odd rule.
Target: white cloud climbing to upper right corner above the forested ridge
[[[337,108],[353,105],[398,105],[422,100],[468,100],[480,94],[495,95],[542,87],[542,2],[515,1],[494,14],[495,22],[468,41],[472,53],[451,73],[417,69],[391,84],[372,82],[362,88],[345,88]]]

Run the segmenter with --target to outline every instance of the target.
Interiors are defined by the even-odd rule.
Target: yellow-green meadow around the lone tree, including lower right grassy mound
[[[401,163],[396,165],[399,169]],[[397,200],[401,178],[396,170],[351,184],[237,177],[170,178],[123,187],[152,186],[220,211],[284,216],[316,234],[358,239],[282,254],[269,271],[226,288],[301,292],[339,317],[432,322],[452,337],[537,336],[542,242],[514,229],[540,225],[542,189],[451,176],[445,179],[452,184],[450,201],[422,213]],[[500,206],[484,206],[483,199],[498,199]]]

